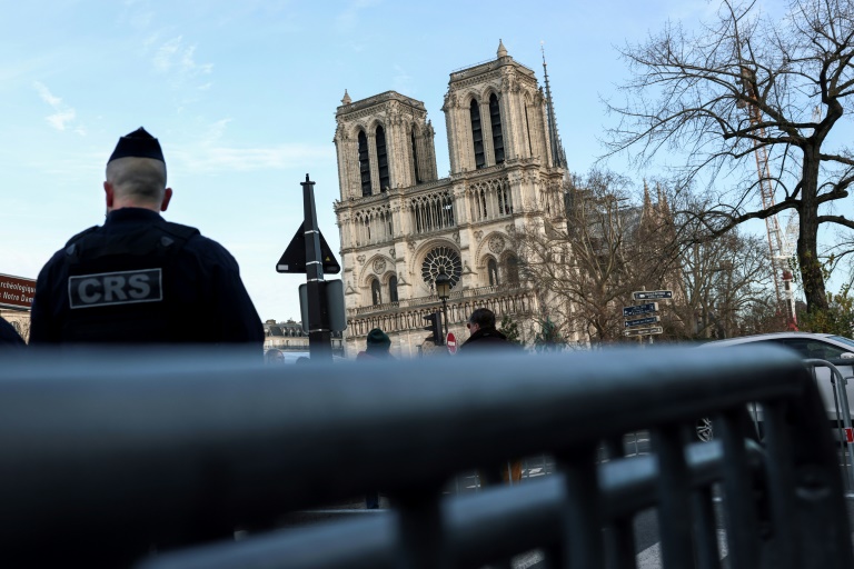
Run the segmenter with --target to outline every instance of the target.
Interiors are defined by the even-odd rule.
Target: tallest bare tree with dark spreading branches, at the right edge
[[[778,21],[755,0],[725,0],[698,33],[668,23],[622,52],[634,74],[625,104],[609,104],[623,118],[610,152],[642,162],[662,151],[684,157],[682,183],[703,179],[713,198],[698,217],[712,236],[796,211],[807,310],[826,310],[818,228],[854,228],[832,210],[848,196],[854,154],[830,139],[852,110],[851,0],[793,0]],[[761,199],[763,191],[777,198]]]

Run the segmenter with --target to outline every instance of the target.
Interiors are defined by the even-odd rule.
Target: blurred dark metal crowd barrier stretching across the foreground
[[[4,567],[450,568],[539,548],[548,567],[623,568],[646,508],[665,568],[717,567],[718,525],[734,569],[854,566],[818,395],[781,348],[287,369],[30,355],[0,359]],[[686,443],[699,417],[717,440]],[[644,429],[652,455],[619,458]],[[600,441],[612,459],[597,465]],[[560,473],[440,496],[456,472],[542,452]],[[227,539],[374,488],[393,511]]]

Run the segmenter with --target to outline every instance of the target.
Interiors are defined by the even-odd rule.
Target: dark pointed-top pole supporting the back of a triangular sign
[[[306,296],[308,300],[308,351],[311,361],[332,359],[332,336],[326,302],[324,263],[320,258],[320,230],[315,209],[315,182],[308,179],[302,186],[302,210],[306,231]]]

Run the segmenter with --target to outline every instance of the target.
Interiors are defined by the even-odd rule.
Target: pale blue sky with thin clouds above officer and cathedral
[[[240,263],[262,319],[299,319],[301,276],[275,264],[316,182],[320,229],[338,251],[335,111],[396,90],[423,100],[447,176],[440,110],[451,71],[495,58],[498,40],[540,80],[540,41],[569,168],[603,150],[626,66],[614,49],[703,0],[0,0],[0,273],[36,278],[103,220],[103,166],[118,137],[160,139],[175,198],[165,217],[198,227]],[[618,167],[618,164],[617,164]],[[640,176],[640,174],[637,174]]]

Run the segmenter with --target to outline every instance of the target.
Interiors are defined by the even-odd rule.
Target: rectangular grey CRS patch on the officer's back
[[[80,274],[68,279],[71,308],[93,308],[163,300],[162,269]]]

